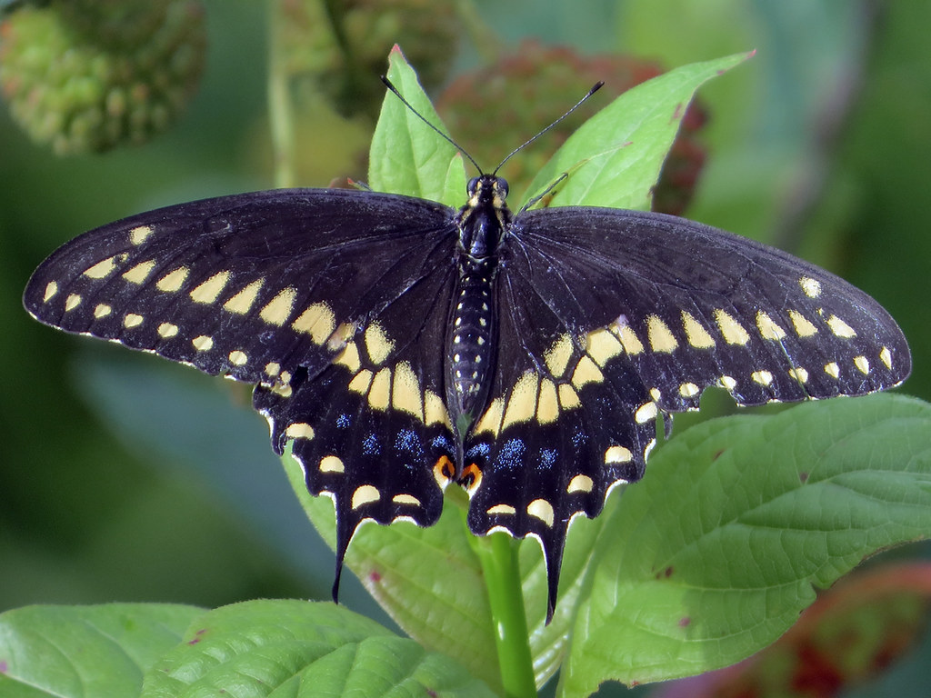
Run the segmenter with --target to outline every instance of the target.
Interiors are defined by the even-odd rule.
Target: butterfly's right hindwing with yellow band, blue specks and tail
[[[540,541],[551,615],[569,522],[641,478],[658,410],[614,336],[576,334],[513,271],[498,280],[491,402],[466,437],[468,523]]]

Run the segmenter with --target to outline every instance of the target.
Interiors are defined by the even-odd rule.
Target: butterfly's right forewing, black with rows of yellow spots
[[[743,237],[655,213],[554,208],[520,216],[512,240],[508,273],[539,277],[546,265],[553,282],[536,292],[567,329],[617,337],[660,409],[694,409],[709,385],[740,405],[864,395],[911,370],[879,303]]]

